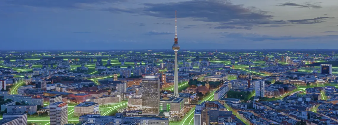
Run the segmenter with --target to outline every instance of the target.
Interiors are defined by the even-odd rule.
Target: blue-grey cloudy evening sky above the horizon
[[[337,49],[337,0],[1,0],[0,49]]]

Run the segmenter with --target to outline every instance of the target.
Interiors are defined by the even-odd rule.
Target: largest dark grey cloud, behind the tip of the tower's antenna
[[[130,9],[120,11],[119,9],[109,8],[107,11],[119,11],[139,13],[160,18],[174,18],[177,10],[178,18],[193,18],[204,22],[227,22],[233,19],[269,19],[272,15],[257,12],[255,7],[246,8],[243,5],[235,5],[230,1],[218,0],[192,0],[184,2],[171,3],[145,3],[144,8]],[[179,20],[178,20],[179,21]]]

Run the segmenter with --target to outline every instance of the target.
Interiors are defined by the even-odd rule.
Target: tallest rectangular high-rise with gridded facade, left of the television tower
[[[142,79],[142,114],[159,115],[160,79],[159,76],[143,76]]]

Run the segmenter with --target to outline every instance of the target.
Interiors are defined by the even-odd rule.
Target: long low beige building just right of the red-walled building
[[[89,99],[89,101],[99,103],[99,105],[107,103],[120,103],[121,97],[113,95],[104,95],[102,97],[92,97]]]

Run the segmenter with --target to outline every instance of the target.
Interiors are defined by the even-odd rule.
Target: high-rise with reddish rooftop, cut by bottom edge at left
[[[50,125],[68,124],[68,104],[65,102],[55,102],[49,105]]]

